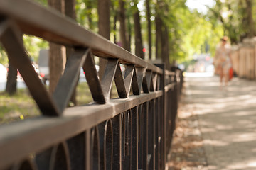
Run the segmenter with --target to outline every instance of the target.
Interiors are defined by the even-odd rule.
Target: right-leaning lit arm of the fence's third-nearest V
[[[124,72],[124,86],[127,92],[127,96],[129,96],[129,92],[131,90],[134,69],[135,69],[134,64],[127,64],[127,67]]]

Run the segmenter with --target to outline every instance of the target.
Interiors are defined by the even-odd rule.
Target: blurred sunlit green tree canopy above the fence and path
[[[46,0],[34,1],[47,6]],[[162,35],[166,36],[161,40],[168,41],[166,43],[168,53],[165,55],[169,55],[171,63],[174,60],[179,62],[189,60],[194,54],[199,53],[207,52],[214,55],[215,47],[223,35],[228,35],[232,44],[255,36],[255,0],[213,1],[215,1],[215,5],[208,6],[207,13],[199,13],[196,9],[188,8],[186,0],[110,0],[110,40],[118,45],[122,42],[120,36],[122,34],[119,31],[123,29],[124,22],[126,43],[129,46],[126,48],[135,54],[137,32],[134,30],[134,25],[139,24],[144,57],[148,60],[150,51],[151,60],[155,60],[156,50],[159,50],[155,36],[159,31],[156,28],[156,18],[159,17],[161,20],[159,29],[162,31]],[[122,4],[124,6],[121,6],[123,11],[120,8],[121,2],[124,3]],[[134,13],[138,10],[139,23],[134,22],[133,19]],[[77,22],[81,26],[98,33],[97,1],[76,0],[75,12]],[[123,12],[124,14],[122,14]],[[124,21],[121,20],[120,15],[125,16]],[[23,40],[28,55],[35,61],[38,58],[38,50],[48,47],[48,42],[40,38],[24,35]],[[8,63],[2,47],[0,47],[0,62]]]

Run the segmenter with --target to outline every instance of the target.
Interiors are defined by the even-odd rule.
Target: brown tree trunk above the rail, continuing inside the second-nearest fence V
[[[99,34],[110,40],[110,0],[98,1]],[[100,79],[102,79],[107,60],[100,58]]]

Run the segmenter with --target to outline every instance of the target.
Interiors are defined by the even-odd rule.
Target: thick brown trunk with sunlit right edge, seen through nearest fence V
[[[62,0],[48,0],[48,5],[61,11],[64,11],[64,1]],[[63,74],[65,68],[65,47],[57,45],[53,42],[49,44],[49,67],[50,67],[50,94],[53,94],[58,81]]]

